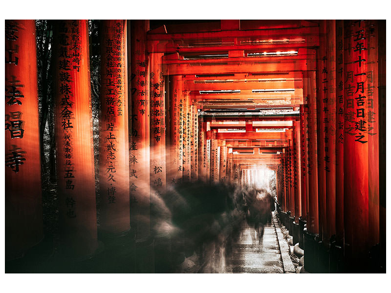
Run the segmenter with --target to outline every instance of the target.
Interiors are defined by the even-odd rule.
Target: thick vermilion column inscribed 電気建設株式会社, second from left
[[[60,238],[84,257],[98,246],[87,21],[57,21],[53,38]]]

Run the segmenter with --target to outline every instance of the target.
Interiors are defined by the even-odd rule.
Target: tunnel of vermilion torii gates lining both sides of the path
[[[170,185],[272,170],[308,272],[385,251],[385,21],[106,20],[101,35],[102,233],[148,242]],[[87,21],[56,21],[53,40],[60,243],[80,258],[99,242]],[[39,137],[35,21],[5,21],[9,260],[43,238]]]

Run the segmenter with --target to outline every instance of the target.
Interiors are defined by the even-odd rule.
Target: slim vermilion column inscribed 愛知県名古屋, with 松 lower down
[[[166,187],[166,119],[162,53],[150,54],[151,195],[159,197]]]

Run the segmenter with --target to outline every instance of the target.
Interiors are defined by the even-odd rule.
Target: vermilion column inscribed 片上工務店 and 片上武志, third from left
[[[130,229],[126,21],[102,22],[100,229]]]

